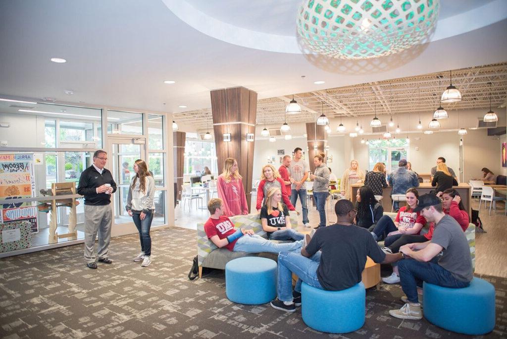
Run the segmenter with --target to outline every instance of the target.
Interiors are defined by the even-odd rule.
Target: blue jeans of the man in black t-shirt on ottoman
[[[298,282],[294,290],[301,292],[301,284],[304,281],[312,287],[323,290],[317,278],[317,268],[320,262],[321,252],[307,258],[297,253],[280,252],[278,254],[278,299],[292,301],[292,273],[298,276]]]

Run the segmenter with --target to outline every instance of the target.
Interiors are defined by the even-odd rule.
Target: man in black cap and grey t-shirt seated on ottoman
[[[400,248],[406,257],[398,263],[406,304],[389,314],[401,319],[421,319],[417,286],[429,284],[462,288],[470,284],[474,274],[466,236],[458,222],[442,210],[441,200],[434,194],[423,194],[414,212],[435,223],[433,237],[425,243],[407,244]]]

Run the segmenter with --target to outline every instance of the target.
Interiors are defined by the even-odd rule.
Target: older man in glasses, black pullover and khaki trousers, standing
[[[95,259],[106,264],[113,263],[107,257],[111,241],[111,194],[116,183],[111,172],[104,168],[107,153],[98,150],[93,154],[93,164],[79,178],[78,193],[85,197],[85,260],[88,268],[97,268]],[[97,257],[94,255],[95,238],[98,232]]]

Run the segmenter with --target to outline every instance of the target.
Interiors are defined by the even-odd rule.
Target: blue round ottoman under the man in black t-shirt
[[[359,283],[342,291],[324,291],[303,283],[301,314],[309,327],[328,333],[347,333],[365,323],[366,291]]]

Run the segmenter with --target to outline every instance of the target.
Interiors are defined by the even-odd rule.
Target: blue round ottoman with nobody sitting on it
[[[243,257],[225,265],[225,293],[232,302],[259,305],[276,296],[276,261]]]

